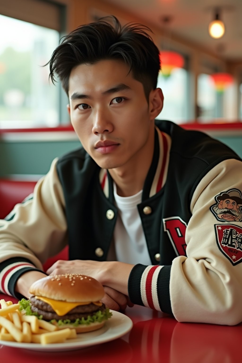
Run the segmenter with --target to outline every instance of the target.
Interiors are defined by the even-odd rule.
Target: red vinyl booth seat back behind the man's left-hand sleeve
[[[33,192],[36,181],[0,179],[0,219],[4,219],[13,209],[15,204],[21,203]],[[68,260],[68,246],[54,257],[44,263],[46,271],[57,260]]]

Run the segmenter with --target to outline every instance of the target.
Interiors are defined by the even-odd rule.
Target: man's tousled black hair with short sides
[[[113,21],[114,25],[108,20]],[[64,37],[54,50],[50,61],[52,82],[59,77],[68,95],[71,70],[79,64],[94,64],[100,60],[123,60],[133,77],[144,87],[145,97],[156,88],[160,69],[159,49],[147,34],[147,26],[128,23],[121,26],[115,16],[85,24]]]

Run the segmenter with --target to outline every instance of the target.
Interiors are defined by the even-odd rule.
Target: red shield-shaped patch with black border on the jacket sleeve
[[[242,228],[234,224],[215,224],[218,248],[233,265],[242,262]]]

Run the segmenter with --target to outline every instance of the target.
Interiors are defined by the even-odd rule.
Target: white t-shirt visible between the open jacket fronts
[[[114,199],[118,218],[114,229],[116,261],[129,264],[151,265],[151,259],[137,204],[141,203],[142,190],[130,197],[120,197],[114,183]]]

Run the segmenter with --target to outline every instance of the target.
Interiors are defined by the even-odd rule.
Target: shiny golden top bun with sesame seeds
[[[35,281],[30,294],[66,302],[94,302],[104,296],[102,284],[82,274],[47,276]]]

